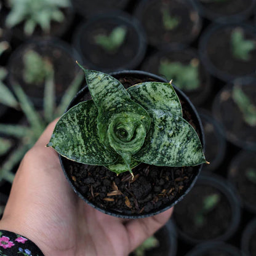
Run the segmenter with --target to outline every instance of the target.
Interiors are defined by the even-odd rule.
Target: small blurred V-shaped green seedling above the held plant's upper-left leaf
[[[117,26],[110,34],[97,34],[95,42],[101,46],[106,52],[114,53],[126,39],[127,29],[123,26]]]

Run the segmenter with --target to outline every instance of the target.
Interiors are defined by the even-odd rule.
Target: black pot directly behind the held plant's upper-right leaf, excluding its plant
[[[190,98],[191,102],[198,106],[204,103],[209,97],[210,91],[212,89],[212,79],[210,74],[205,70],[204,66],[199,60],[196,50],[188,49],[166,49],[161,52],[156,52],[155,54],[148,57],[142,65],[142,70],[148,71],[153,74],[161,74],[159,66],[162,61],[168,61],[170,63],[182,63],[182,65],[189,65],[191,62],[198,62],[198,79],[199,87],[197,89],[186,90],[182,89],[183,92]],[[173,79],[174,84],[178,86],[175,78],[171,76],[166,78],[167,80]]]

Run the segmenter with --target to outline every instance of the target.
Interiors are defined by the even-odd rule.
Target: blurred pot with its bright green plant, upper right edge
[[[253,76],[256,64],[254,28],[241,23],[212,25],[200,39],[199,54],[207,70],[223,81]]]

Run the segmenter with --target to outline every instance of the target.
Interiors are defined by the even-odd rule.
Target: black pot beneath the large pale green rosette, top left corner
[[[6,7],[7,7],[7,12],[4,13],[4,16],[5,16],[4,20],[6,19],[7,15],[10,12],[9,6],[6,6]],[[34,33],[31,35],[27,35],[24,33],[24,22],[19,23],[18,25],[14,26],[10,30],[12,31],[14,38],[21,42],[31,39],[33,37],[48,38],[49,36],[51,37],[63,36],[63,34],[65,34],[66,31],[68,31],[71,23],[73,22],[74,9],[73,9],[73,6],[70,6],[68,8],[62,8],[61,10],[65,16],[65,19],[63,20],[62,23],[58,23],[55,21],[50,22],[50,31],[47,33],[43,31],[39,25],[37,25],[34,30]],[[4,21],[4,25],[5,25],[5,21]]]

